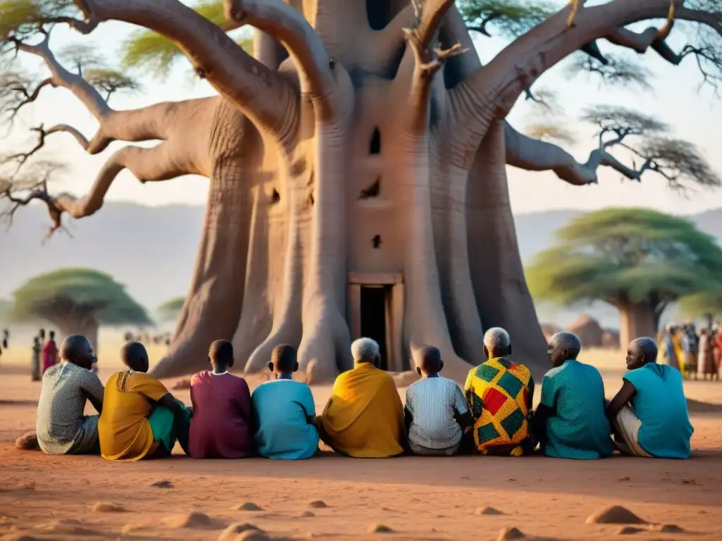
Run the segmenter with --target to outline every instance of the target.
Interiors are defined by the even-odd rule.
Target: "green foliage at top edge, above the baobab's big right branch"
[[[558,6],[546,1],[461,0],[456,6],[469,30],[490,35],[488,27],[492,25],[505,38],[529,32],[559,11]]]

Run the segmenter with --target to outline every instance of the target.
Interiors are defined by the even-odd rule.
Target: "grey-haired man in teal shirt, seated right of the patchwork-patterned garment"
[[[557,333],[549,340],[552,368],[541,382],[534,412],[534,438],[547,457],[598,459],[614,452],[604,412],[604,381],[599,370],[577,361],[577,335]]]

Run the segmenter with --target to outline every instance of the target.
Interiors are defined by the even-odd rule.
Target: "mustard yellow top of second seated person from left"
[[[110,376],[97,423],[103,458],[133,461],[148,454],[153,444],[148,399],[157,401],[167,393],[161,382],[144,372],[123,371]]]

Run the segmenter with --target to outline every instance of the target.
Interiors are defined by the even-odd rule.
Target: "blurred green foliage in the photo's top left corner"
[[[74,0],[0,0],[0,40],[32,35],[38,25],[75,13]]]

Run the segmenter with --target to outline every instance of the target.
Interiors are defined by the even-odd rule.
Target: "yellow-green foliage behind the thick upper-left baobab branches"
[[[193,6],[193,9],[215,25],[225,25],[222,1],[204,0]],[[245,33],[238,40],[238,44],[248,53],[253,50],[253,40]],[[186,58],[178,45],[151,30],[134,32],[123,43],[121,50],[125,68],[140,69],[157,77],[168,76],[175,61]]]

